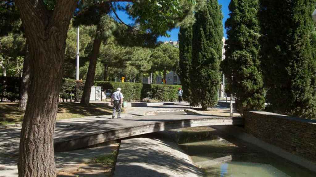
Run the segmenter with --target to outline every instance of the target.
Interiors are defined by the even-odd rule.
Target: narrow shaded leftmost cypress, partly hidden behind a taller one
[[[192,26],[180,27],[179,31],[179,68],[183,99],[191,102],[190,71],[192,57]]]

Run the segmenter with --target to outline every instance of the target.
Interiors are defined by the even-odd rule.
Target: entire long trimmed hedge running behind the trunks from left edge
[[[63,100],[74,99],[80,101],[83,93],[85,81],[73,79],[63,79],[60,90],[60,98]],[[19,100],[20,77],[0,77],[0,100],[6,98],[10,101]],[[121,82],[95,82],[96,86],[101,86],[103,91],[115,92],[117,88],[122,88],[124,100],[141,101],[150,98],[158,101],[175,101],[178,99],[178,88],[180,85],[152,85],[144,83],[121,83]]]

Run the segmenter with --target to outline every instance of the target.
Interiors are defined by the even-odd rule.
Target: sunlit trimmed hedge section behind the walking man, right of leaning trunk
[[[96,82],[103,90],[115,92],[117,88],[122,88],[122,94],[127,101],[143,100],[150,97],[159,101],[175,101],[178,99],[178,88],[180,85],[151,85],[144,83],[120,83],[120,82]]]

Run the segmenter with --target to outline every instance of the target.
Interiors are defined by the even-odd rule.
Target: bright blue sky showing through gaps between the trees
[[[218,3],[222,5],[222,13],[224,15],[224,18],[223,18],[223,26],[224,26],[226,19],[229,17],[228,4],[230,3],[230,0],[218,0]],[[117,12],[117,14],[119,15],[120,19],[122,19],[125,23],[127,24],[133,23],[133,21],[128,18],[128,15],[125,14],[125,12],[119,11]],[[159,37],[158,40],[159,41],[169,41],[169,40],[177,41],[178,33],[179,33],[179,28],[175,28],[171,31],[168,31],[168,34],[170,35],[170,37]],[[225,28],[224,28],[224,37],[227,37]]]

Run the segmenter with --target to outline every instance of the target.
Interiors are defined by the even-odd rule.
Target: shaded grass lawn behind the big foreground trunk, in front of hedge
[[[57,120],[86,116],[111,115],[112,108],[105,103],[90,103],[88,106],[79,103],[59,103]],[[18,103],[0,103],[0,125],[22,122],[24,111],[20,111]]]

